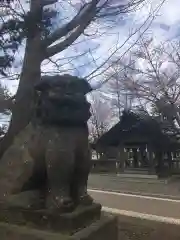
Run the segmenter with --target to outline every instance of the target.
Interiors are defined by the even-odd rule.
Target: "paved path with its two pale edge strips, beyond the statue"
[[[180,225],[180,200],[92,189],[89,193],[107,212]]]

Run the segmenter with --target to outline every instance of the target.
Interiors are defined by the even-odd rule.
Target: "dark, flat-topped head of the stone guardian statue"
[[[86,80],[70,75],[46,76],[35,88],[40,96],[37,116],[43,123],[77,126],[91,116],[85,97],[91,87]]]

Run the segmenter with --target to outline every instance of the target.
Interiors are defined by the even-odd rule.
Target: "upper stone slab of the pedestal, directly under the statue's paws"
[[[40,230],[72,234],[100,219],[101,205],[76,208],[71,213],[58,214],[47,210],[0,209],[0,222],[26,225]]]

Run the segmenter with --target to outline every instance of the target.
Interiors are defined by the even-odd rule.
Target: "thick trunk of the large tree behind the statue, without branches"
[[[40,7],[40,2],[40,0],[31,0],[32,12]],[[14,136],[26,127],[30,121],[33,109],[34,84],[40,80],[42,59],[41,33],[37,29],[35,36],[27,38],[22,73],[12,108],[10,126],[0,142],[0,158],[13,142]]]

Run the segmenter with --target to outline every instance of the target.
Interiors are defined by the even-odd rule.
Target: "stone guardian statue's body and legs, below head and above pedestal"
[[[84,189],[84,185],[80,184],[81,181],[82,184],[87,184],[84,181],[87,181],[90,167],[87,136],[87,129],[84,128],[67,129],[55,126],[46,128],[33,127],[30,124],[20,133],[0,163],[0,202],[9,202],[11,194],[32,189],[46,191],[47,208],[58,207],[62,197],[69,198],[70,201],[72,197],[76,201],[78,196],[83,196],[86,188]],[[56,165],[53,167],[54,162]],[[85,175],[80,174],[82,170]],[[77,174],[76,179],[72,179],[73,173]],[[66,191],[63,185],[60,185],[61,182],[64,184],[65,180]],[[46,186],[47,181],[48,186]],[[79,187],[79,192],[71,192],[71,187]],[[48,188],[51,191],[48,191]],[[27,201],[26,199],[25,202]],[[82,201],[86,204],[92,202],[92,199],[87,195]],[[22,202],[23,208],[25,205],[26,203]]]

